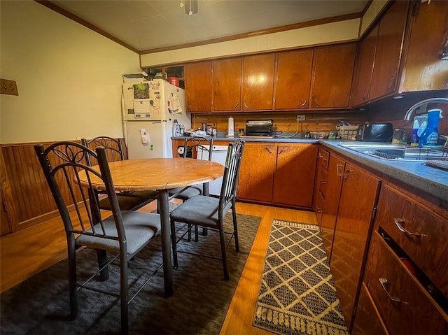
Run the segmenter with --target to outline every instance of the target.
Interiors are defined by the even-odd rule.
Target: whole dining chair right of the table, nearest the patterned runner
[[[232,238],[235,238],[235,249],[237,250],[237,252],[239,252],[235,192],[243,150],[244,141],[238,140],[233,143],[229,143],[227,157],[225,159],[223,183],[221,184],[221,193],[218,198],[207,197],[206,195],[197,195],[188,199],[171,212],[170,224],[175,269],[177,269],[179,266],[177,257],[178,250],[176,244],[181,241],[185,234],[187,234],[185,232],[179,239],[177,239],[176,223],[183,222],[186,224],[191,224],[195,227],[200,226],[212,231],[218,231],[221,241],[221,260],[223,262],[224,279],[229,279],[227,255],[225,251],[225,233],[231,235],[230,241],[232,241]],[[224,216],[226,213],[228,213],[228,211],[230,211],[230,209],[232,210],[233,230],[231,232],[228,232],[224,230]],[[197,254],[194,252],[186,253],[192,253],[193,255],[200,255],[203,257],[216,259],[216,257],[213,257],[211,255]]]

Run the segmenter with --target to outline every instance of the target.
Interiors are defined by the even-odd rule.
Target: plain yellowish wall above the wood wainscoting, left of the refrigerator
[[[123,137],[121,75],[139,55],[35,1],[0,1],[0,142]]]

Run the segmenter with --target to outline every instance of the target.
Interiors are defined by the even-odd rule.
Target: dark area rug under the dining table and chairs
[[[221,261],[179,253],[174,270],[174,296],[165,298],[160,270],[129,306],[130,334],[218,334],[251,250],[260,218],[237,214],[240,252],[228,245],[230,280],[223,278]],[[231,213],[225,225],[231,227]],[[180,235],[179,235],[180,236]],[[229,238],[229,236],[228,236]],[[216,231],[200,235],[199,242],[186,239],[181,250],[221,255]],[[130,262],[129,283],[138,287],[162,263],[160,239],[156,238]],[[96,254],[78,252],[78,272],[97,269]],[[149,269],[148,269],[149,266]],[[78,318],[68,320],[69,293],[66,260],[51,266],[1,294],[1,334],[119,334],[120,301],[89,290],[78,292]],[[106,287],[119,289],[118,266],[109,269]],[[82,278],[78,276],[78,278]],[[103,283],[102,283],[103,284]],[[131,292],[132,287],[130,289]]]

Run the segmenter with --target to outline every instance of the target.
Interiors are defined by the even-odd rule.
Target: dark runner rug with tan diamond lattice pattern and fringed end
[[[316,225],[273,220],[253,325],[276,334],[347,334]]]

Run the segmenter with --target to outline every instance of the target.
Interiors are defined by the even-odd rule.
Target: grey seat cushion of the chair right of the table
[[[218,227],[218,208],[219,198],[197,195],[176,207],[171,212],[170,218],[204,227]],[[227,211],[228,208],[224,208],[223,213]]]

